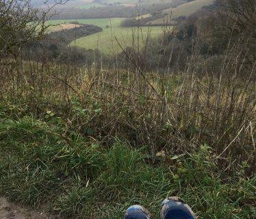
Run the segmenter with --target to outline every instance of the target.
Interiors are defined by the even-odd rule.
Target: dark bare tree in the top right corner
[[[256,59],[256,1],[216,0],[219,4],[218,29],[228,39],[229,49],[237,49],[240,61],[251,68]],[[225,36],[226,35],[226,36]]]

